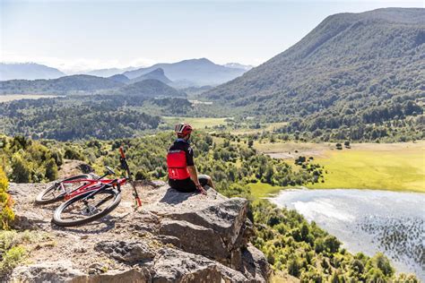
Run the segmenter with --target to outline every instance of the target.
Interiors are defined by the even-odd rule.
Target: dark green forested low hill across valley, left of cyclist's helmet
[[[145,100],[124,95],[15,100],[0,107],[0,133],[59,141],[133,137],[160,124],[159,116],[134,109]]]

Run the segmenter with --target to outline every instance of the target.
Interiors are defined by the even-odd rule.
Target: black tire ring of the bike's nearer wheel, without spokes
[[[84,197],[86,197],[87,195],[91,194],[93,192],[87,192],[87,193],[82,193],[80,195],[75,196],[74,198],[72,198],[71,200],[68,200],[64,203],[62,203],[56,210],[55,213],[53,214],[53,223],[55,223],[57,226],[61,226],[61,227],[72,227],[72,226],[80,226],[83,224],[87,224],[93,220],[96,219],[101,219],[102,217],[106,216],[108,213],[110,213],[112,210],[115,210],[119,204],[119,202],[121,202],[121,193],[117,192],[117,190],[115,189],[106,189],[104,191],[101,191],[100,193],[97,193],[95,195],[99,196],[100,194],[104,194],[104,193],[108,193],[110,195],[114,196],[114,201],[104,210],[101,210],[99,213],[93,214],[85,219],[78,219],[78,220],[74,220],[74,221],[69,221],[69,220],[64,220],[61,217],[62,212],[68,208],[70,205],[74,204],[74,202],[78,202],[81,201]]]

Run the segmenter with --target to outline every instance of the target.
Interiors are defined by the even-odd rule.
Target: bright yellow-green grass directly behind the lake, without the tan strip
[[[425,193],[425,155],[421,149],[343,150],[316,159],[325,166],[325,183],[309,188],[377,189]]]

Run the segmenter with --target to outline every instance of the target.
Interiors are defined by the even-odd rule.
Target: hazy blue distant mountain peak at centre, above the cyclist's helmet
[[[246,72],[245,69],[226,67],[214,64],[206,58],[201,58],[184,60],[178,63],[154,64],[151,67],[140,68],[123,74],[132,80],[159,68],[176,85],[181,84],[187,87],[217,85],[230,81]]]

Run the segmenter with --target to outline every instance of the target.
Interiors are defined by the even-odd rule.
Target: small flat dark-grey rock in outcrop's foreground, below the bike
[[[129,263],[150,261],[155,256],[145,242],[103,241],[96,244],[94,250],[107,253],[118,261]]]

